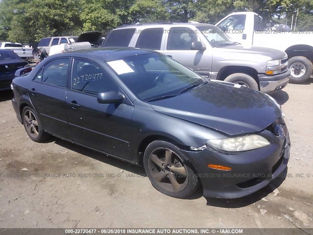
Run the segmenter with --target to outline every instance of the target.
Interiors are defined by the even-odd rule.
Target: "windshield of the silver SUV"
[[[234,43],[218,27],[198,26],[197,28],[209,41],[212,47],[220,47],[221,45]]]

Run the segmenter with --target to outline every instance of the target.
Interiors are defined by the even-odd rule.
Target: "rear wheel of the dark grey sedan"
[[[35,142],[42,142],[48,138],[36,112],[26,106],[22,111],[23,125],[29,138]]]

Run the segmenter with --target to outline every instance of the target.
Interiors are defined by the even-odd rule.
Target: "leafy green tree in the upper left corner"
[[[78,0],[3,0],[0,4],[0,14],[5,12],[0,27],[10,41],[34,43],[47,36],[76,34],[81,28]]]

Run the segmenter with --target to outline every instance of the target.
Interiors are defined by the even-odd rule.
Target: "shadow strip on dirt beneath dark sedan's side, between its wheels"
[[[54,143],[56,143],[62,147],[70,149],[76,153],[80,153],[82,155],[85,155],[86,157],[93,158],[94,160],[100,161],[102,163],[110,164],[114,167],[117,167],[117,168],[120,168],[120,169],[123,169],[126,171],[130,171],[134,174],[145,176],[145,170],[143,167],[140,167],[140,166],[135,165],[135,164],[130,164],[130,163],[124,162],[124,161],[116,159],[114,157],[107,156],[106,154],[93,151],[93,150],[88,149],[86,147],[82,147],[82,146],[79,146],[77,144],[73,144],[73,143],[70,143],[68,141],[64,141],[64,140],[61,140],[61,139],[58,139],[55,137],[49,138],[49,140],[46,142],[54,142]]]

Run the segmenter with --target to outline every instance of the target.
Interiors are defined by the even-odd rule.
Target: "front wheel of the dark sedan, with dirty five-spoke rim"
[[[168,196],[185,198],[200,185],[196,172],[186,160],[176,145],[153,141],[145,150],[143,164],[153,187]]]

